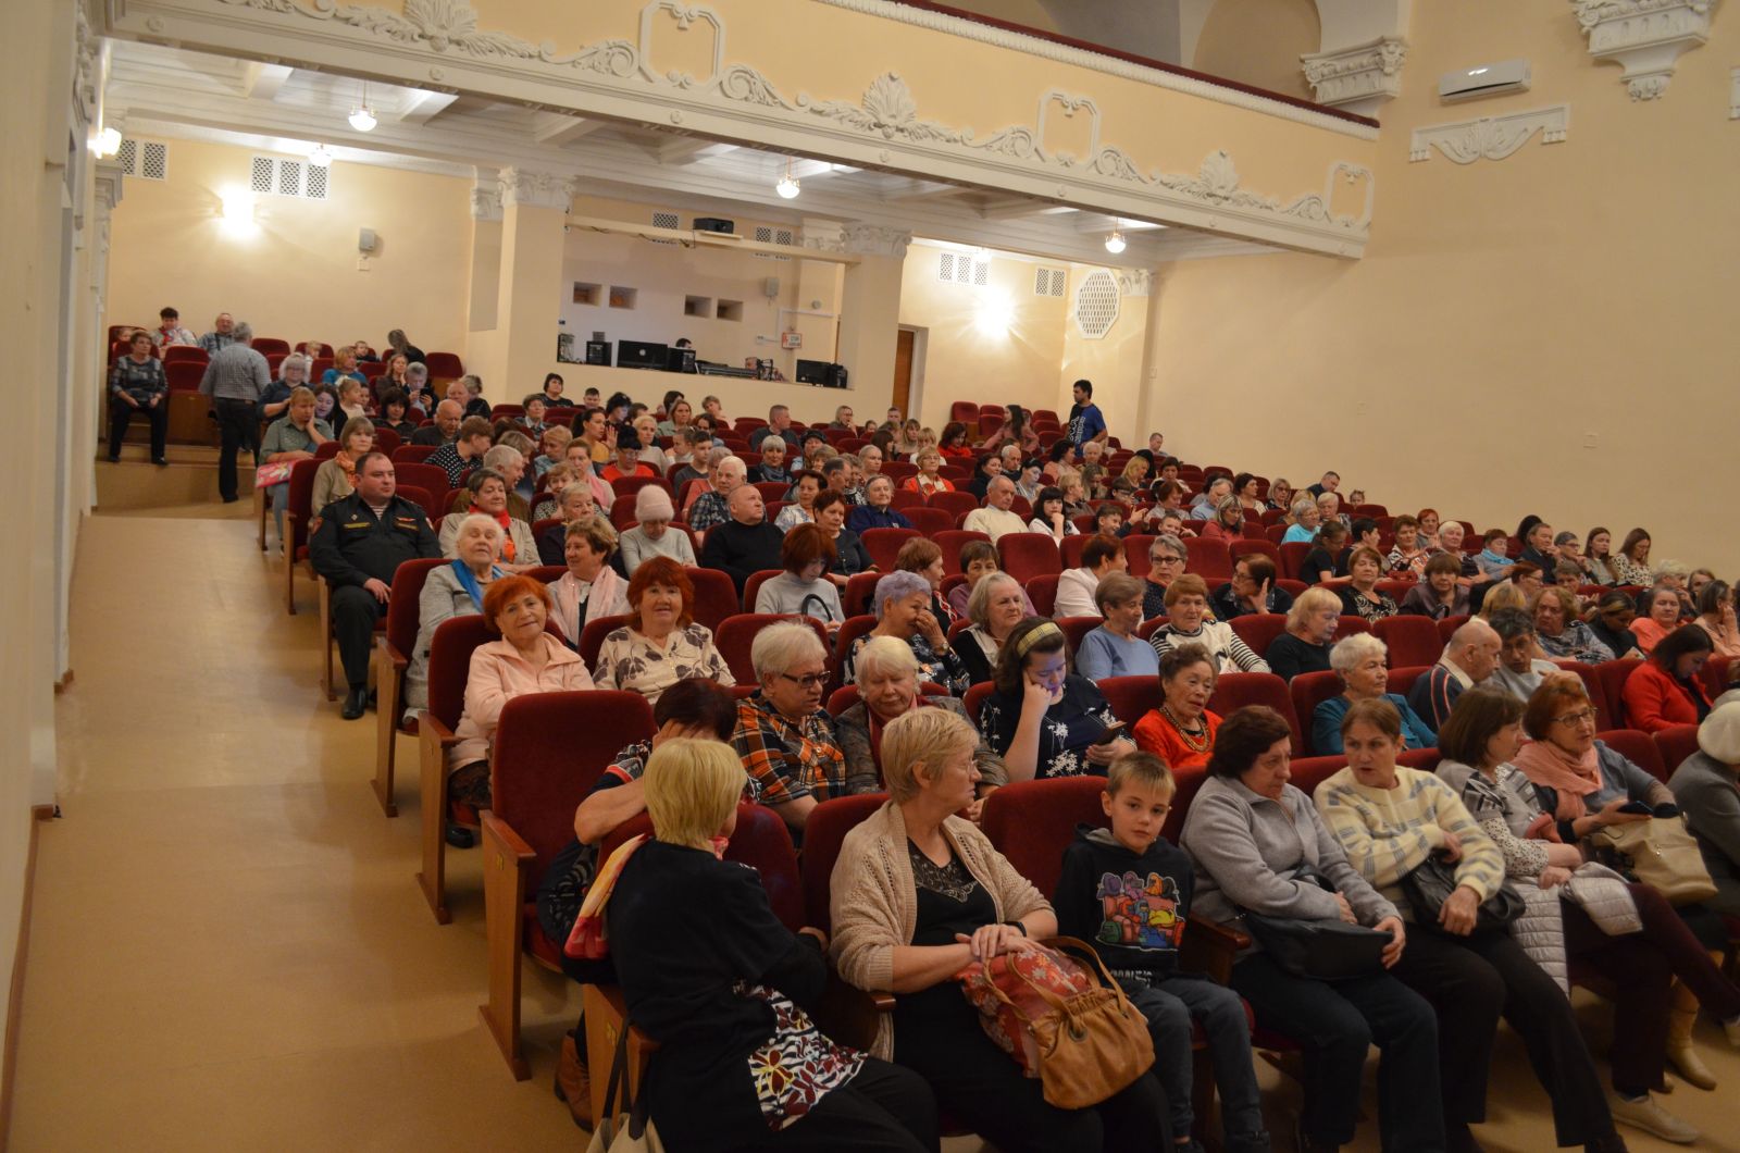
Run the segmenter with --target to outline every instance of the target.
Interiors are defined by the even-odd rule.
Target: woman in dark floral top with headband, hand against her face
[[[1136,751],[1100,688],[1070,672],[1063,629],[1044,617],[1009,632],[992,683],[980,733],[1009,780],[1105,777],[1112,761]]]

